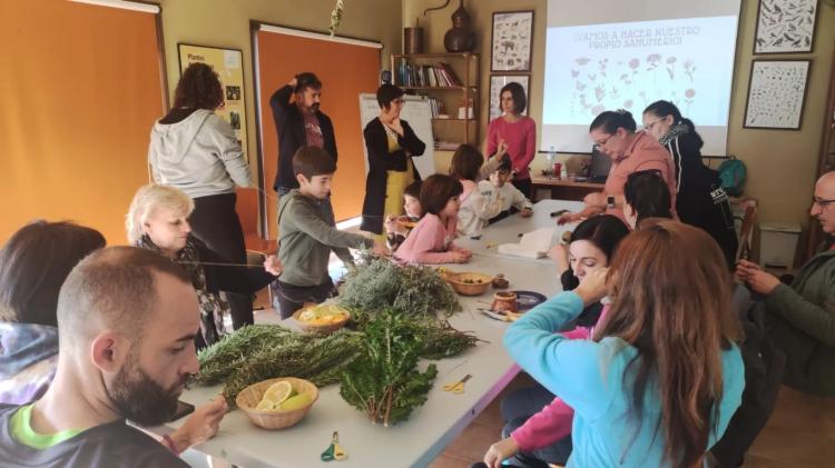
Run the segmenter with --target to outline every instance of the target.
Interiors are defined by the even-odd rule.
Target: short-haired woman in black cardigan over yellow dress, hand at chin
[[[418,138],[412,127],[401,120],[403,90],[384,83],[377,89],[380,117],[363,130],[369,155],[369,175],[365,179],[363,220],[360,229],[383,235],[383,221],[403,215],[403,193],[418,180],[412,158],[423,155],[426,145]],[[385,240],[385,238],[382,238]]]

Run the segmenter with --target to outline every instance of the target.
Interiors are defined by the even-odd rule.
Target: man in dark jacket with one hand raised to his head
[[[295,99],[291,102],[291,97]],[[298,148],[323,148],[336,162],[336,138],[331,118],[320,110],[322,81],[311,72],[296,74],[269,98],[275,132],[278,136],[278,172],[273,188],[279,196],[298,188],[293,173],[293,156]]]

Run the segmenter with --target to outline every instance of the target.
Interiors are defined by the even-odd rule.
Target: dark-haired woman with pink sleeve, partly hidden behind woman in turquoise
[[[577,226],[569,246],[557,245],[551,257],[557,262],[563,290],[574,289],[587,273],[606,268],[629,228],[617,217],[601,215]],[[570,339],[590,339],[595,325],[606,317],[608,306],[587,307],[576,328],[562,335]],[[564,465],[571,454],[571,424],[574,411],[541,385],[508,395],[501,404],[505,420],[500,440],[488,450],[484,462],[493,468],[514,457],[511,465],[539,467],[548,462]]]

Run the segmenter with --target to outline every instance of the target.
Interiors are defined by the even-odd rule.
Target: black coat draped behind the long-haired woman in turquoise
[[[721,439],[710,448],[711,462],[721,468],[739,467],[774,411],[786,368],[786,355],[777,349],[765,327],[765,303],[753,300],[744,286],[734,291],[734,307],[745,331],[739,349],[745,364],[743,401]]]

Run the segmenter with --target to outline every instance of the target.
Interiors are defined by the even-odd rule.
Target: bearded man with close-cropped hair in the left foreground
[[[67,277],[57,315],[52,385],[32,405],[0,405],[2,465],[187,466],[177,441],[167,437],[166,448],[126,424],[167,421],[198,370],[197,296],[185,271],[144,249],[98,250]]]

